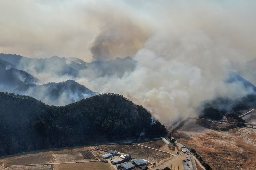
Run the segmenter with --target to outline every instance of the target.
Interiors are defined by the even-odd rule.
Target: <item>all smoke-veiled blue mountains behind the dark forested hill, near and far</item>
[[[49,105],[67,105],[98,93],[80,85],[75,81],[60,83],[42,82],[36,78],[41,74],[68,78],[86,77],[94,79],[105,76],[122,77],[125,72],[134,70],[136,61],[131,57],[124,59],[92,63],[78,58],[37,59],[20,55],[0,54],[0,91],[15,92],[20,95],[35,97]]]

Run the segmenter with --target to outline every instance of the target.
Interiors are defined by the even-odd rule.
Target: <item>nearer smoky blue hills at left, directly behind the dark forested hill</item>
[[[42,83],[39,79],[14,67],[0,59],[0,91],[32,96],[49,105],[67,105],[98,94],[73,80],[37,85]]]

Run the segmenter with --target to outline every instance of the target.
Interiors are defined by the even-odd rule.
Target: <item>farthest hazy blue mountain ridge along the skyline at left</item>
[[[20,55],[0,54],[0,59],[15,65],[17,69],[24,70],[32,75],[49,73],[50,75],[69,76],[70,78],[87,77],[98,78],[104,76],[122,77],[125,72],[131,72],[136,66],[136,61],[131,57],[124,59],[103,62],[95,61],[92,63],[84,62],[78,58],[27,58]],[[34,75],[35,76],[35,75]]]

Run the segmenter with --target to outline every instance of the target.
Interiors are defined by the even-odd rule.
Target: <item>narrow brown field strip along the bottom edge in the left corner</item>
[[[36,165],[36,166],[5,166],[3,170],[54,170],[53,165]]]

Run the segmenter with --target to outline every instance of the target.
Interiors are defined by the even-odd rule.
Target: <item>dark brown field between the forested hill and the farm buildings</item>
[[[158,162],[170,156],[168,153],[156,151],[154,149],[135,144],[110,144],[98,145],[97,147],[108,151],[115,150],[118,152],[127,153],[132,155],[132,158],[142,158],[148,160],[149,162]]]

